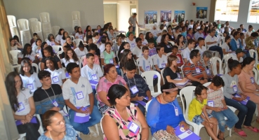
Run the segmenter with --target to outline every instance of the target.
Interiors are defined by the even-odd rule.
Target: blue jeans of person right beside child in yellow
[[[211,115],[218,120],[218,127],[220,128],[220,132],[225,132],[225,125],[227,125],[229,128],[232,128],[239,120],[236,114],[234,114],[234,112],[228,108],[219,112],[212,111]],[[225,120],[225,117],[227,120]]]

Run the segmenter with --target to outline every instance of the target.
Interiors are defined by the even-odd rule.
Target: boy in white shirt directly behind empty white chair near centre
[[[157,55],[153,58],[154,68],[156,71],[161,73],[167,65],[167,58],[164,54],[164,47],[162,45],[157,45]]]

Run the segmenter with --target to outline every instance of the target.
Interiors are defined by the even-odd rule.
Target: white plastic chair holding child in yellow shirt
[[[195,86],[188,86],[188,87],[183,87],[182,90],[180,90],[180,99],[182,101],[182,114],[183,117],[185,118],[185,122],[188,125],[191,125],[193,127],[193,132],[199,136],[199,132],[204,125],[197,125],[196,123],[193,123],[191,120],[188,118],[188,112],[189,112],[189,105],[192,102],[192,99],[194,98],[194,90]],[[185,102],[186,102],[186,110],[185,110],[185,102],[182,98],[182,95],[185,96]]]

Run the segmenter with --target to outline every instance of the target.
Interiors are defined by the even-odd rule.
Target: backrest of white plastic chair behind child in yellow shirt
[[[182,103],[184,103],[183,99],[182,99],[182,95],[185,96],[185,102],[186,102],[186,107],[185,104],[182,104],[182,110],[183,110],[183,116],[185,118],[188,118],[188,111],[189,111],[189,105],[192,102],[192,99],[194,98],[194,90],[195,90],[195,86],[188,86],[188,87],[183,87],[182,90],[180,90],[180,98]],[[186,108],[186,111],[185,111]]]

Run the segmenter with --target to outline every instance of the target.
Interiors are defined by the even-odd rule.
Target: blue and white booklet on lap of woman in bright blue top
[[[185,130],[183,127],[180,127],[180,125],[178,125],[174,129],[175,129],[175,135],[179,139],[185,139],[185,140],[189,140],[189,139],[190,140],[198,140],[198,139],[201,139],[201,137],[199,137],[197,134],[195,134],[191,130]]]

